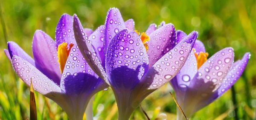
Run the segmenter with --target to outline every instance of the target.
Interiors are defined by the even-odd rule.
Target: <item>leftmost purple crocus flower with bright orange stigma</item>
[[[84,31],[91,33],[89,29]],[[35,31],[34,59],[15,42],[8,42],[8,50],[4,51],[17,75],[27,85],[30,86],[32,79],[34,89],[58,103],[71,120],[82,120],[90,98],[108,85],[81,55],[73,33],[72,16],[61,16],[55,39],[56,42],[43,31]]]

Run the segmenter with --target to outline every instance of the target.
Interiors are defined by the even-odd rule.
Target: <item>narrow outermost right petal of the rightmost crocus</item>
[[[218,89],[218,97],[220,97],[224,92],[226,92],[230,87],[232,87],[236,81],[240,78],[244,69],[250,59],[250,53],[245,53],[244,57],[237,61],[236,64],[233,64],[230,72],[227,74],[224,82],[221,84],[221,87]]]

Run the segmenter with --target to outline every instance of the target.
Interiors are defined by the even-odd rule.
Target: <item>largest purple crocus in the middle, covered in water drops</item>
[[[128,120],[146,96],[178,73],[198,36],[193,31],[176,39],[170,23],[158,29],[152,24],[139,36],[133,20],[124,22],[119,10],[110,8],[105,26],[88,37],[76,14],[73,18],[79,49],[94,72],[113,89],[119,120]]]

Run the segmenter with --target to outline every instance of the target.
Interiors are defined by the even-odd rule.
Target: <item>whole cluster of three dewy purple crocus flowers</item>
[[[187,116],[220,97],[239,79],[250,58],[234,61],[231,47],[207,60],[198,32],[186,35],[171,23],[151,24],[147,31],[134,29],[117,8],[110,8],[105,25],[95,31],[83,28],[76,14],[64,14],[55,41],[35,31],[34,59],[15,42],[6,56],[17,75],[36,91],[52,99],[71,120],[82,120],[90,98],[110,86],[119,120],[128,120],[150,93],[170,83]],[[184,119],[180,112],[177,119]]]

